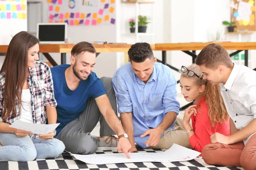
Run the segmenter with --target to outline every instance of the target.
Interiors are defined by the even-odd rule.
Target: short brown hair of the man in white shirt
[[[209,44],[203,48],[195,59],[197,65],[205,65],[207,68],[216,68],[225,65],[227,68],[233,66],[227,50],[218,44]]]

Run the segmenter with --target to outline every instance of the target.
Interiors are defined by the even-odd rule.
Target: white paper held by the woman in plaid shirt
[[[26,131],[30,131],[34,134],[47,134],[52,132],[53,130],[56,129],[56,127],[58,127],[59,123],[57,124],[34,124],[34,123],[27,123],[27,122],[22,122],[20,120],[16,120],[15,122],[12,123],[12,125],[10,127],[16,128],[16,129],[20,129],[20,130],[26,130]]]

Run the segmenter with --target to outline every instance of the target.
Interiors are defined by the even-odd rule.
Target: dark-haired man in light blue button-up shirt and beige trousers
[[[128,55],[130,62],[116,71],[112,82],[129,151],[137,151],[134,142],[143,148],[189,147],[186,131],[175,125],[180,104],[172,70],[157,62],[148,43],[132,45]]]

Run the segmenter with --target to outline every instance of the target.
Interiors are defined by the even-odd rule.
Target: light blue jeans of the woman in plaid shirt
[[[17,137],[14,133],[0,133],[0,161],[33,161],[34,159],[57,158],[65,149],[58,139],[33,139]]]

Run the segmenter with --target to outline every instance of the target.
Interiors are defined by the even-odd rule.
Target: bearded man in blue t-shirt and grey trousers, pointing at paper
[[[94,153],[105,144],[117,145],[128,155],[131,144],[117,118],[116,97],[111,78],[99,79],[93,72],[96,49],[89,42],[79,42],[71,50],[71,65],[51,68],[54,95],[57,100],[55,138],[64,142],[67,151],[76,154]],[[100,138],[90,135],[100,119]],[[118,135],[117,139],[112,136]],[[116,139],[116,140],[114,140]]]

